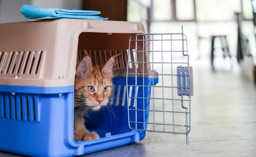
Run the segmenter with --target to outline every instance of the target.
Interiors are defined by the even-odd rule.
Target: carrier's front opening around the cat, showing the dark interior
[[[77,63],[84,57],[86,50],[92,60],[93,66],[104,65],[113,55],[116,57],[114,64],[113,90],[109,97],[108,105],[98,111],[89,110],[85,117],[85,126],[89,131],[95,131],[100,138],[129,133],[127,97],[126,97],[126,72],[130,33],[93,33],[83,32],[79,35]],[[131,46],[131,47],[135,47]],[[131,54],[129,57],[135,57]],[[129,69],[135,68],[129,65]],[[131,81],[134,78],[131,78]],[[131,89],[131,90],[130,90]],[[129,93],[135,92],[129,87]]]

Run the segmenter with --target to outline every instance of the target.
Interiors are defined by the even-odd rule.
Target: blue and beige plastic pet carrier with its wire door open
[[[183,32],[144,34],[141,23],[78,19],[0,24],[0,32],[1,151],[77,156],[141,141],[145,130],[189,133],[193,80]],[[174,39],[175,35],[182,38]],[[172,49],[175,41],[182,44],[182,50]],[[88,113],[86,127],[96,131],[100,139],[75,142],[74,75],[84,49],[93,65],[103,65],[111,56],[121,55],[114,67],[118,76],[113,78],[110,104],[104,111]],[[181,54],[185,61],[173,62],[172,53]],[[164,69],[164,64],[171,68]],[[157,68],[161,70],[156,72]],[[176,102],[184,110],[175,111]],[[163,116],[162,122],[157,120],[158,113]],[[164,117],[169,113],[170,123]],[[184,114],[184,124],[174,123],[176,113]]]

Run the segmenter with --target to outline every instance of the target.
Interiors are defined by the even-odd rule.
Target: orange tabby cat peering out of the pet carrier
[[[119,54],[118,54],[119,55]],[[84,115],[88,110],[97,111],[108,104],[113,88],[112,69],[114,55],[103,67],[93,67],[85,51],[85,57],[76,66],[74,82],[74,140],[98,139],[96,132],[89,132],[84,126]]]

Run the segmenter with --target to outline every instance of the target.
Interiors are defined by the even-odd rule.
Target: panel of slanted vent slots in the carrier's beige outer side
[[[44,51],[0,52],[0,75],[36,75]]]

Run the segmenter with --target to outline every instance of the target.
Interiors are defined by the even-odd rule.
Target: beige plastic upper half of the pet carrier
[[[84,49],[94,65],[122,53],[116,69],[126,76],[129,38],[134,33],[145,33],[141,23],[57,19],[0,24],[0,85],[74,85],[76,62],[83,57]],[[144,44],[146,51],[148,46]],[[142,42],[138,43],[137,49],[142,48]],[[137,61],[142,62],[142,53],[137,55]],[[148,53],[144,53],[144,61],[149,62]],[[149,64],[138,64],[138,73],[142,73],[143,66],[144,73],[149,74]],[[135,71],[134,64],[129,71]]]

